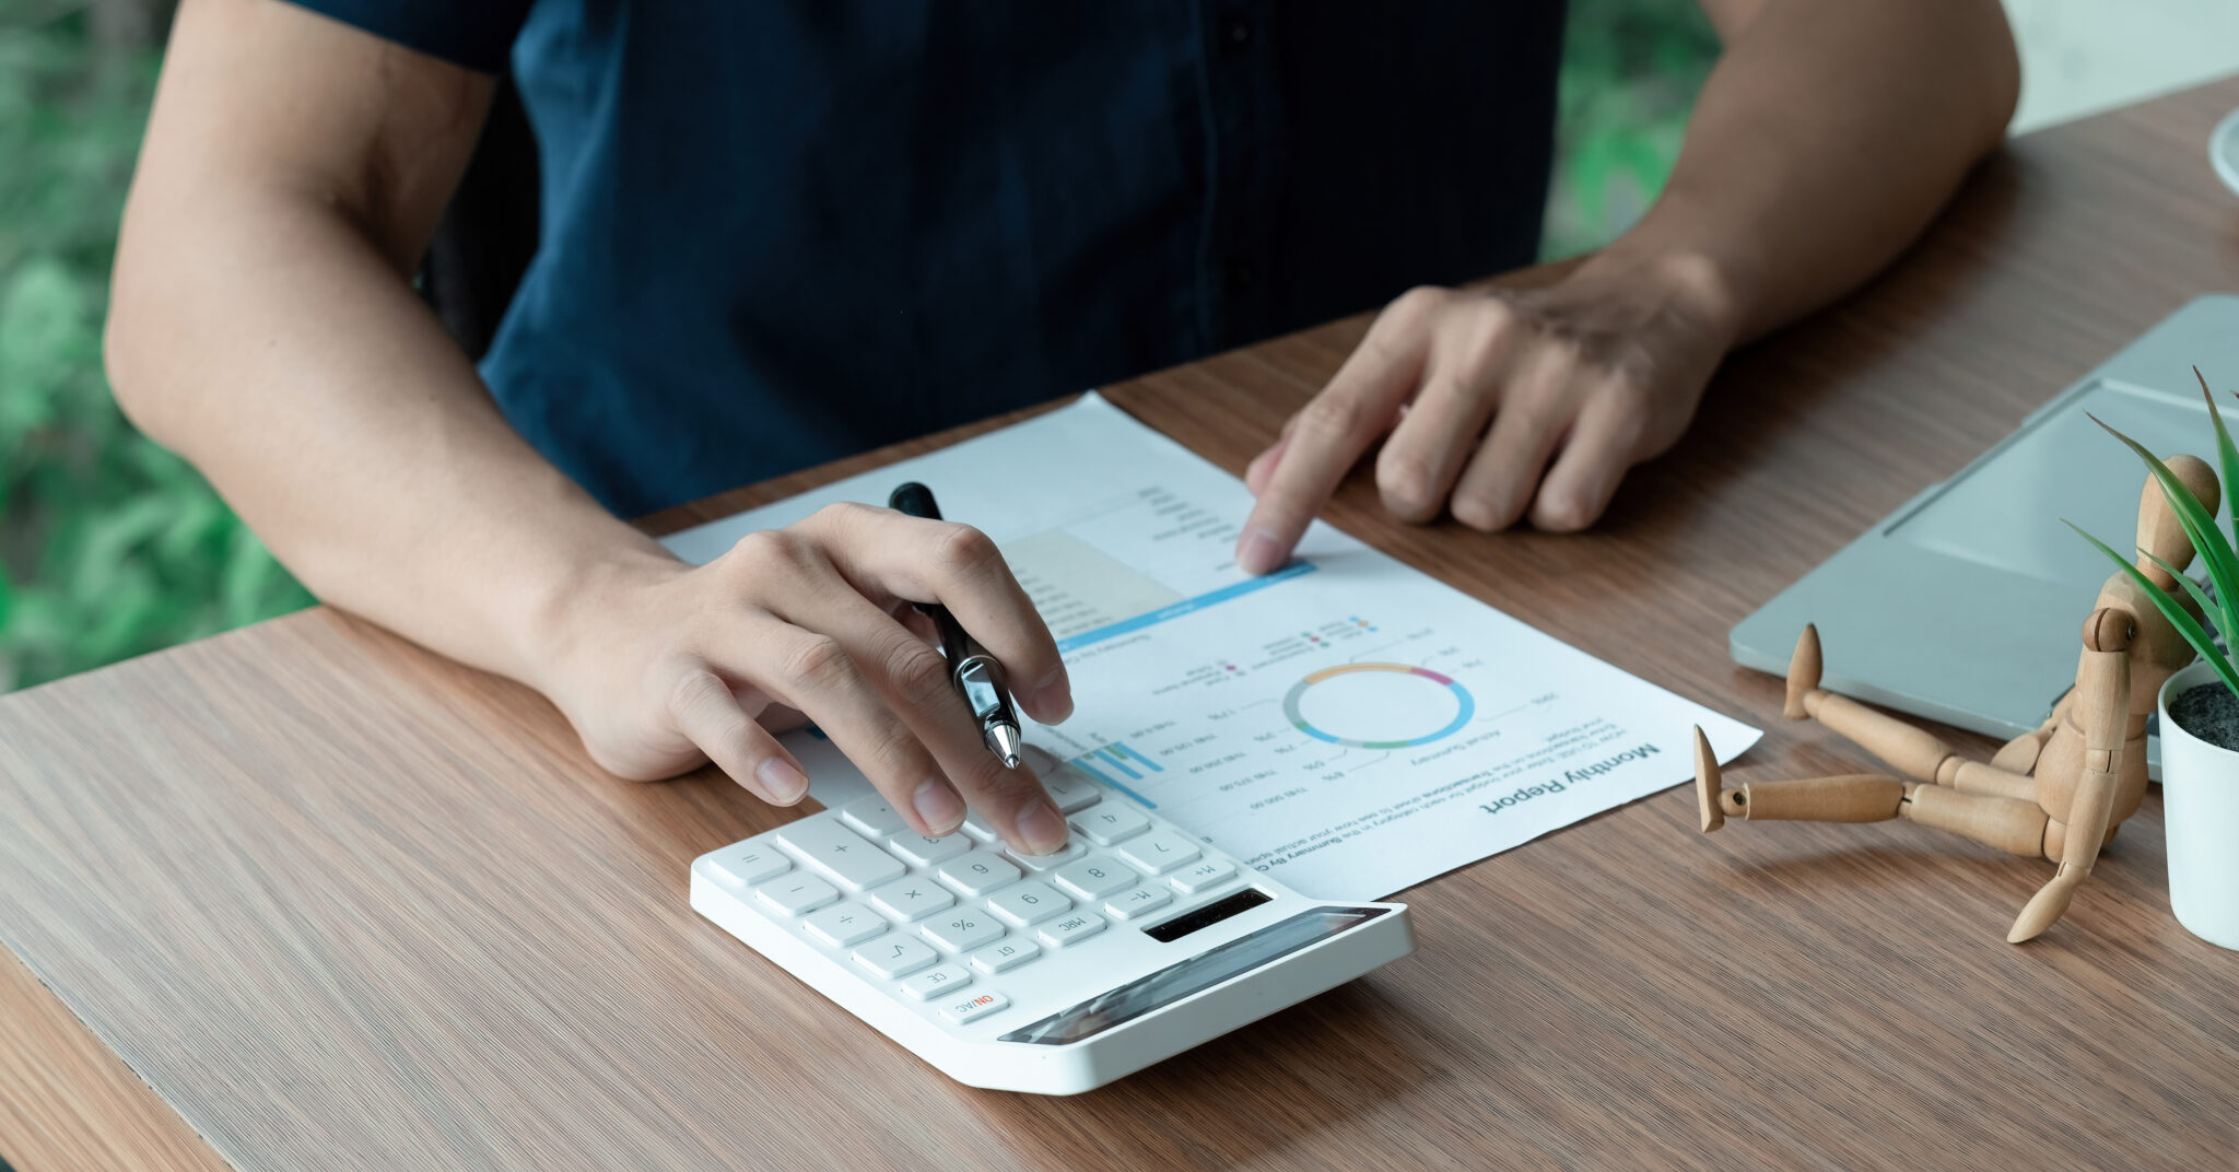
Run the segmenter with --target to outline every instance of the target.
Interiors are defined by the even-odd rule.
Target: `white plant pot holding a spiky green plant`
[[[2239,950],[2239,753],[2170,719],[2170,701],[2217,683],[2194,663],[2161,686],[2161,818],[2170,829],[2170,910],[2194,937]]]

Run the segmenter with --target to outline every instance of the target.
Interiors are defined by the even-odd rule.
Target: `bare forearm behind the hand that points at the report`
[[[1737,338],[1856,287],[1997,146],[2020,65],[1995,0],[1706,2],[1729,45],[1655,208],[1596,262],[1702,258]]]

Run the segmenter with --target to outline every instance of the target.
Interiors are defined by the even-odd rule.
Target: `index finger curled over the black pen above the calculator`
[[[828,529],[826,551],[858,589],[949,607],[1003,663],[1030,717],[1057,724],[1072,715],[1072,683],[1057,639],[987,533],[862,504],[824,509],[808,520]]]

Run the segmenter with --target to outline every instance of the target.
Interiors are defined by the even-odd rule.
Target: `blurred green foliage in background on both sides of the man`
[[[170,0],[0,0],[0,690],[311,603],[116,412],[101,320]],[[1693,0],[1572,0],[1549,258],[1664,186],[1717,54]]]

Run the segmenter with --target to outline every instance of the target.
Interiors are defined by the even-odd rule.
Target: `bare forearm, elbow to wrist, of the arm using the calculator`
[[[119,397],[320,598],[535,683],[555,616],[661,558],[499,417],[376,247],[289,193],[150,199],[112,318]]]

